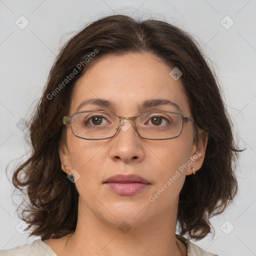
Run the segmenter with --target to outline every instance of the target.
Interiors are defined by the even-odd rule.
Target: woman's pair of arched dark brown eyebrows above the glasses
[[[86,105],[105,106],[108,108],[113,108],[115,106],[114,102],[112,102],[110,100],[106,100],[103,98],[89,98],[89,99],[83,100],[76,108],[76,111],[79,111],[79,109],[81,109],[83,106],[86,106]],[[154,107],[154,106],[159,106],[159,105],[171,105],[171,106],[174,106],[178,112],[182,112],[182,110],[178,106],[178,104],[176,104],[168,99],[162,99],[162,98],[145,100],[142,103],[137,104],[137,108],[139,110],[141,110],[144,108],[149,108],[149,107]]]

